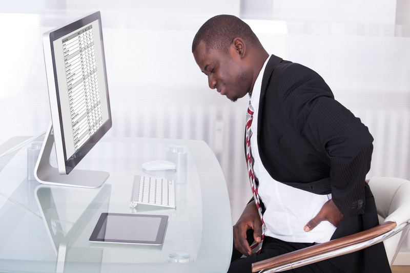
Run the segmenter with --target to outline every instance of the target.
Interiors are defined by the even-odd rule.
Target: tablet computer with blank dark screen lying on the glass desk
[[[166,215],[102,213],[89,241],[161,245],[167,222]]]

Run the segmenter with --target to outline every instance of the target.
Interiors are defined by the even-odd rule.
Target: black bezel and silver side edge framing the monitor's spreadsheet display
[[[54,41],[85,27],[98,20],[100,45],[101,45],[101,56],[103,61],[103,73],[104,73],[104,83],[107,96],[107,108],[108,108],[108,119],[101,125],[101,127],[70,157],[67,155],[66,151],[66,139],[64,137],[64,127],[63,127],[63,117],[61,115],[60,107],[60,97],[58,88],[58,77],[55,61],[55,51],[54,51]],[[53,77],[47,77],[49,86],[49,99],[50,99],[50,109],[51,109],[51,119],[53,124],[53,134],[54,134],[54,145],[57,155],[57,165],[60,174],[69,174],[74,167],[87,155],[87,153],[93,148],[93,146],[108,132],[112,127],[111,118],[111,107],[109,99],[109,89],[107,80],[107,69],[106,69],[106,59],[104,50],[104,40],[103,31],[101,24],[101,14],[99,11],[83,16],[79,19],[74,20],[71,23],[66,24],[63,27],[58,27],[44,34],[44,54],[46,60],[46,70],[47,75],[52,73]],[[48,60],[47,60],[48,59]],[[51,62],[50,62],[51,61]],[[49,64],[47,64],[49,62]],[[47,66],[52,63],[51,69]]]

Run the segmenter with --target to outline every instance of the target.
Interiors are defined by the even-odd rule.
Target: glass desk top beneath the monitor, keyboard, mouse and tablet
[[[12,139],[2,146],[7,150]],[[105,138],[79,169],[104,170],[99,188],[39,184],[27,179],[27,147],[0,159],[0,271],[226,272],[232,220],[219,163],[203,141]],[[156,159],[174,161],[176,209],[130,207],[135,175]],[[52,162],[53,164],[53,162]],[[92,243],[103,212],[167,215],[160,246]]]

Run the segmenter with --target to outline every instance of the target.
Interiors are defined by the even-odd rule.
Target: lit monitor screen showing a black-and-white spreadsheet
[[[62,37],[53,32],[52,56],[66,158],[110,118],[99,20]]]

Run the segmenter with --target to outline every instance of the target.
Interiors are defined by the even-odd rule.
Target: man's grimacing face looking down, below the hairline
[[[228,52],[208,51],[201,41],[194,51],[194,58],[201,71],[208,76],[209,88],[216,89],[232,101],[249,93],[252,74],[247,73],[244,61],[234,46]]]

